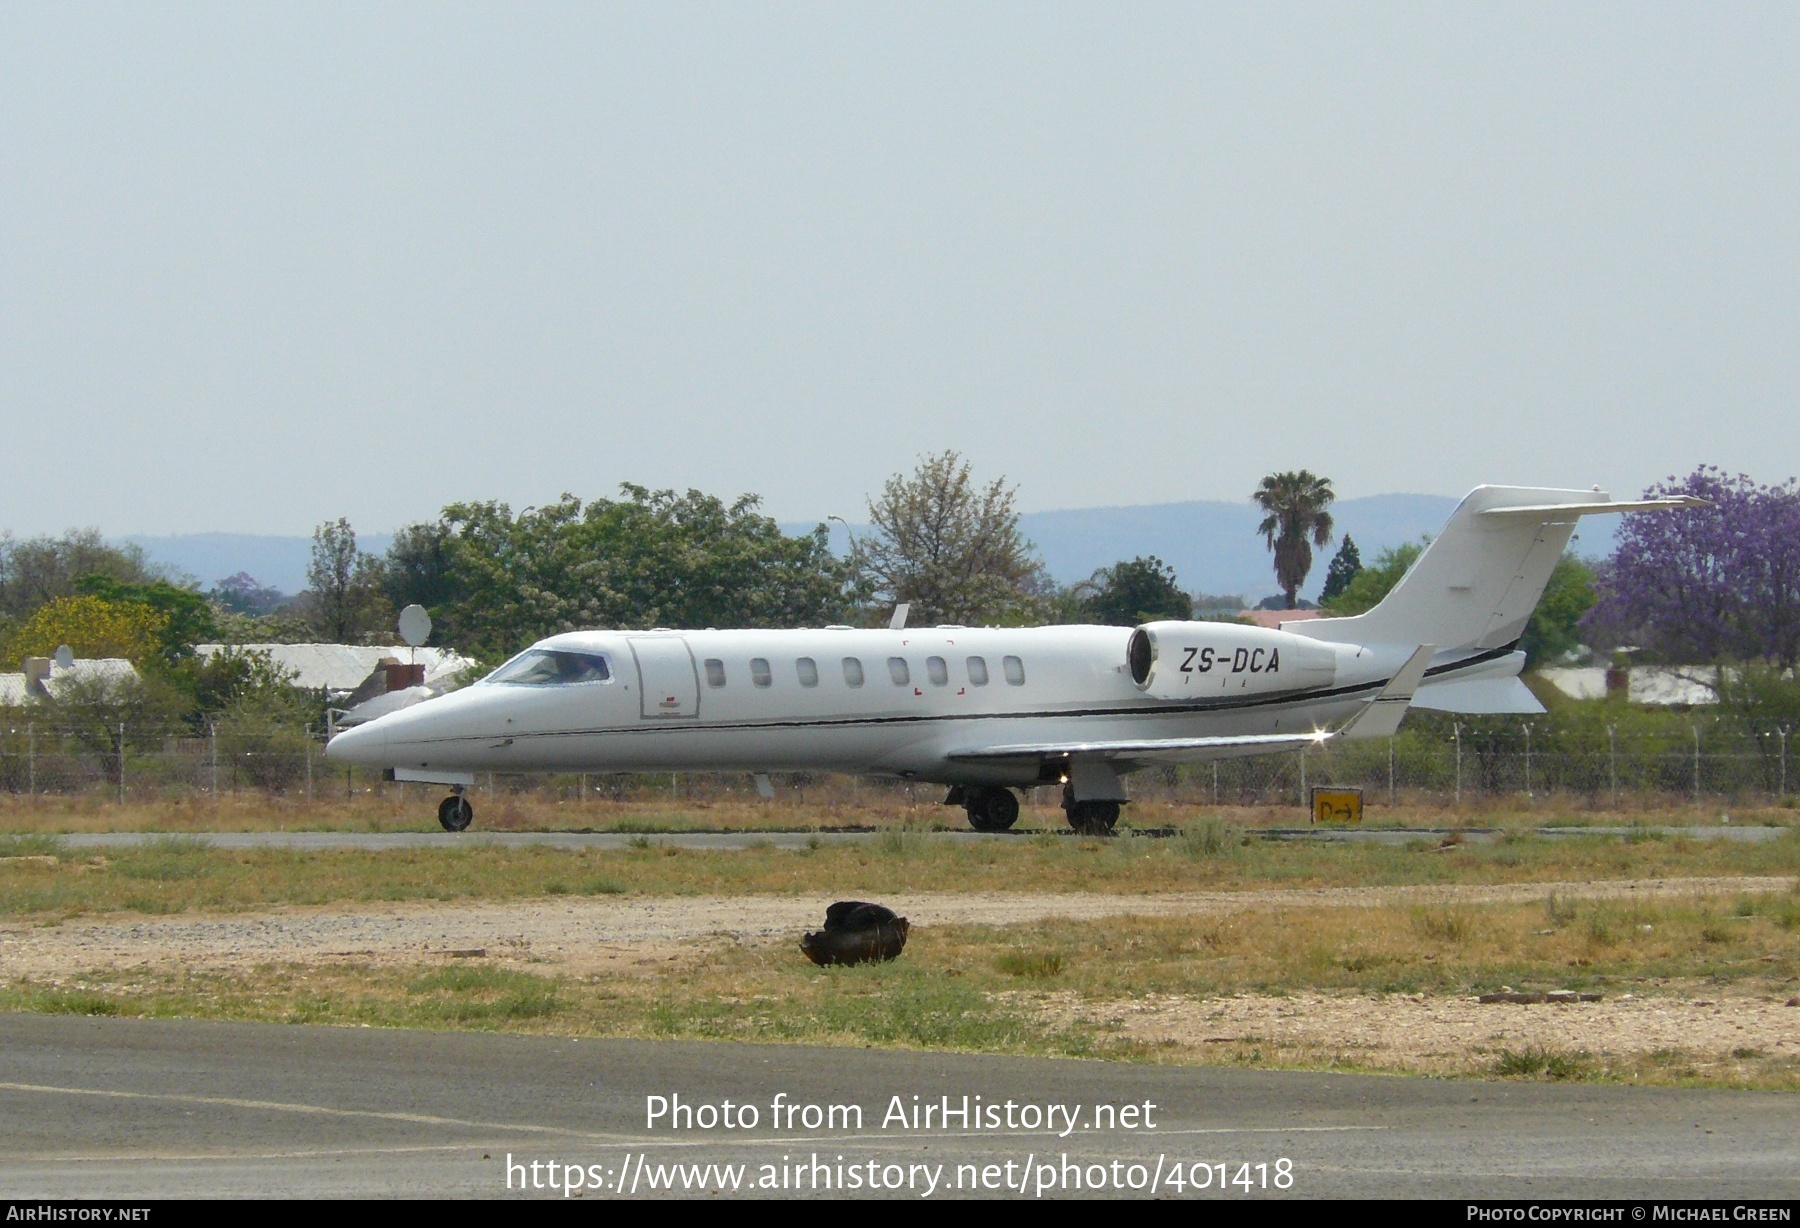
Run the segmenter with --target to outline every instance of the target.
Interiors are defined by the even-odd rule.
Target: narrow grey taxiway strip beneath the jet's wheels
[[[1688,839],[1728,839],[1759,843],[1780,839],[1791,828],[1786,826],[1546,826],[1539,835],[1548,839],[1566,839],[1573,835],[1685,835]],[[1019,841],[1044,835],[1046,832],[920,832],[920,839],[977,843],[977,841]],[[1129,839],[1163,839],[1172,832],[1129,832]],[[1442,841],[1449,835],[1471,844],[1489,844],[1503,835],[1489,830],[1471,828],[1249,828],[1247,835],[1274,841],[1323,841],[1323,843],[1359,843],[1408,844],[1413,841]],[[1049,832],[1049,835],[1067,835],[1071,832]],[[169,839],[167,834],[151,832],[79,832],[59,837],[68,848],[130,848]],[[214,848],[295,848],[304,852],[326,852],[337,848],[380,852],[385,848],[626,848],[628,844],[650,841],[652,844],[675,844],[679,848],[806,848],[814,843],[826,844],[864,844],[878,839],[877,832],[207,832],[200,835],[182,835],[178,839],[203,841]]]

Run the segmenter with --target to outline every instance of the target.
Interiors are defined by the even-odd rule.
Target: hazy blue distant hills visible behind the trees
[[[1454,499],[1445,495],[1372,495],[1343,499],[1332,506],[1337,535],[1319,551],[1312,585],[1316,596],[1325,582],[1325,564],[1348,533],[1373,558],[1386,546],[1409,542],[1420,533],[1444,528]],[[1136,508],[1075,508],[1069,511],[1028,511],[1019,517],[1024,535],[1037,546],[1049,573],[1064,582],[1085,580],[1096,567],[1121,558],[1156,555],[1193,592],[1244,596],[1255,605],[1274,592],[1269,551],[1256,537],[1262,517],[1249,502],[1195,501],[1161,502]],[[788,533],[810,533],[810,522],[787,522]],[[833,546],[844,547],[844,529],[832,526]],[[860,528],[859,528],[860,531]],[[128,537],[157,560],[187,573],[211,589],[225,576],[245,571],[259,583],[299,592],[306,587],[308,537],[261,537],[252,533],[178,533],[171,537]],[[369,533],[356,540],[371,553],[385,553],[392,535]]]

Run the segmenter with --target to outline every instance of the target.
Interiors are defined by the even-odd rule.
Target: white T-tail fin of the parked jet
[[[1381,605],[1355,618],[1283,623],[1282,630],[1327,643],[1438,645],[1458,654],[1503,648],[1525,634],[1580,517],[1703,504],[1615,504],[1600,490],[1476,486]]]

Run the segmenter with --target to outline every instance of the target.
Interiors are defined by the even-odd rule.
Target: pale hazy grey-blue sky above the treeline
[[[1796,5],[0,4],[0,528],[1800,468]]]

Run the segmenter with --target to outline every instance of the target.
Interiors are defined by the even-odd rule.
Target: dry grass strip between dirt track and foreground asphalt
[[[1800,893],[1555,911],[1553,924],[1546,900],[945,926],[914,931],[900,962],[859,969],[815,969],[792,944],[709,940],[675,960],[608,974],[576,974],[527,953],[407,967],[94,971],[13,981],[0,989],[0,1008],[1800,1089],[1793,1044],[1721,1039],[1735,1035],[1730,1012],[1679,1044],[1638,1043],[1629,1028],[1606,1034],[1611,1041],[1597,1032],[1600,1039],[1564,1044],[1411,1032],[1372,1046],[1305,1026],[1206,1034],[1224,1026],[1204,1023],[1208,1012],[1217,1017],[1226,1007],[1264,1003],[1264,1017],[1274,1019],[1307,1014],[1283,1012],[1283,1001],[1318,1010],[1355,999],[1391,1032],[1386,1021],[1399,1005],[1467,1003],[1501,985],[1593,989],[1613,1001],[1665,996],[1706,1007],[1701,1017],[1712,1019],[1714,1003],[1694,998],[1721,1008],[1766,1005],[1800,972]],[[1712,936],[1717,926],[1728,926],[1726,938]],[[1132,1012],[1166,1023],[1172,1008],[1201,1012],[1201,1030],[1132,1023]],[[1582,1019],[1609,1008],[1465,1014],[1562,1012],[1579,1035]]]

